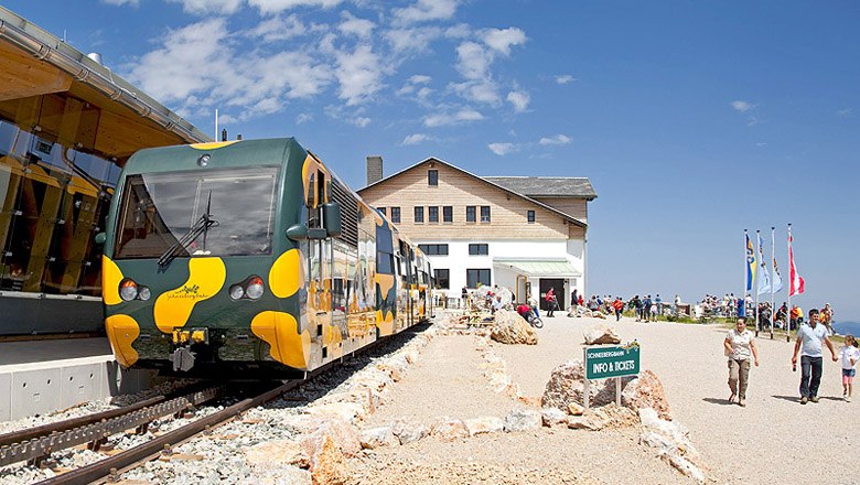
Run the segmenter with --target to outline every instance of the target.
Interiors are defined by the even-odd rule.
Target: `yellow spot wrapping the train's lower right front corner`
[[[299,323],[289,313],[266,311],[251,321],[251,332],[269,344],[269,354],[281,364],[308,368],[311,358],[311,334],[299,333]]]

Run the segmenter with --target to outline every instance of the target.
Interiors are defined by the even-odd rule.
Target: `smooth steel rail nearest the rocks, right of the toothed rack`
[[[158,436],[152,441],[126,450],[108,459],[92,463],[80,468],[73,470],[52,478],[39,482],[40,485],[85,485],[101,479],[117,470],[127,468],[138,462],[148,460],[158,455],[165,446],[172,446],[183,442],[195,434],[200,434],[206,429],[223,424],[240,413],[278,398],[283,392],[304,382],[303,379],[290,380],[275,389],[266,391],[255,398],[244,399],[228,408],[225,408],[214,414],[198,419],[182,428],[178,428],[166,434]]]

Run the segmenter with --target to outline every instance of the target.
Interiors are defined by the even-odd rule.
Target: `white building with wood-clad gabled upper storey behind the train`
[[[383,179],[381,158],[367,163],[358,194],[430,256],[450,298],[481,283],[542,301],[555,288],[563,309],[585,294],[588,179],[477,176],[436,158]]]

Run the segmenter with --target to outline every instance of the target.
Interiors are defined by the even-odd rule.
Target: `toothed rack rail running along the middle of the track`
[[[52,452],[65,450],[78,444],[96,443],[111,434],[144,425],[158,418],[175,414],[192,406],[209,401],[218,397],[223,387],[198,390],[186,396],[159,402],[154,406],[136,409],[131,412],[105,419],[96,423],[85,424],[67,431],[54,432],[49,435],[22,441],[11,445],[0,446],[0,466],[25,460],[37,460]]]

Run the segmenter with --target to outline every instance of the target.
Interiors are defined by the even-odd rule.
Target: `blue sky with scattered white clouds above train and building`
[[[793,301],[860,321],[858,2],[0,4],[205,132],[217,108],[230,138],[297,137],[353,188],[370,154],[587,176],[590,294],[740,294],[743,231],[770,260],[771,227],[787,288],[792,223]]]

